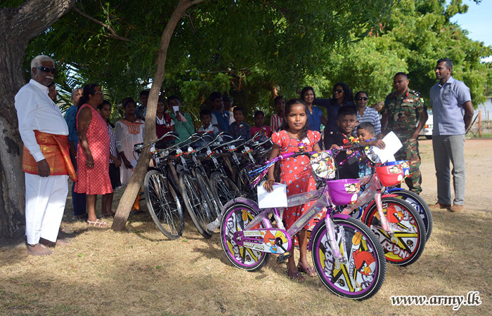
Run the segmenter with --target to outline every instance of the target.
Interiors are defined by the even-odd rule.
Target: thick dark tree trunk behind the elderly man
[[[27,43],[70,11],[75,0],[30,0],[18,8],[0,9],[0,236],[25,232],[25,183],[22,140],[15,94],[25,84],[22,59]]]

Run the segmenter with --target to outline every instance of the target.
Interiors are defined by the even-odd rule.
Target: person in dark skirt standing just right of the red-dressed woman
[[[114,191],[117,187],[121,187],[122,183],[119,180],[119,166],[122,165],[122,161],[119,160],[119,154],[116,150],[116,134],[115,134],[115,126],[111,124],[111,104],[103,100],[103,103],[98,105],[98,112],[101,114],[101,117],[108,124],[108,133],[110,134],[110,180],[112,190]],[[108,193],[103,195],[103,200],[101,202],[101,213],[103,217],[112,217],[115,216],[115,213],[112,212],[112,193]]]

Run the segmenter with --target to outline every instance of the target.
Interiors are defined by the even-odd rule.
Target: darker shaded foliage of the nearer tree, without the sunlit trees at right
[[[214,90],[247,96],[252,102],[247,107],[269,107],[271,91],[295,95],[335,47],[384,20],[392,1],[367,2],[217,0],[194,6],[171,40],[163,92],[178,94],[185,106],[197,108]],[[26,65],[33,55],[48,53],[59,68],[65,67],[67,77],[83,78],[75,83],[59,77],[65,92],[96,82],[115,102],[136,98],[155,72],[160,36],[176,4],[77,1],[77,10],[91,19],[76,10],[60,18],[30,43]],[[244,91],[256,86],[263,87],[261,96]]]

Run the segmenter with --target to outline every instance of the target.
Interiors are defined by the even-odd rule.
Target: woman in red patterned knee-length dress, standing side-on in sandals
[[[112,192],[109,176],[110,136],[106,122],[96,110],[103,102],[103,92],[96,84],[84,86],[84,94],[77,113],[77,177],[75,192],[85,193],[87,199],[87,225],[107,227],[108,223],[96,217],[96,195]]]

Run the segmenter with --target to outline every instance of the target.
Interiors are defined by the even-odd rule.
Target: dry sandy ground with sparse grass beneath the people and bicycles
[[[434,204],[431,140],[420,141],[420,152],[422,197]],[[275,258],[259,272],[238,270],[218,234],[203,239],[187,219],[183,237],[170,241],[143,214],[130,216],[125,232],[64,222],[75,230],[71,244],[48,257],[27,256],[23,244],[1,248],[0,315],[490,315],[491,157],[492,140],[466,141],[466,210],[434,211],[434,231],[420,259],[406,268],[388,265],[382,289],[367,301],[332,295],[317,277],[291,282]],[[72,217],[70,205],[65,220]],[[481,305],[455,311],[390,301],[469,291],[479,291]]]

